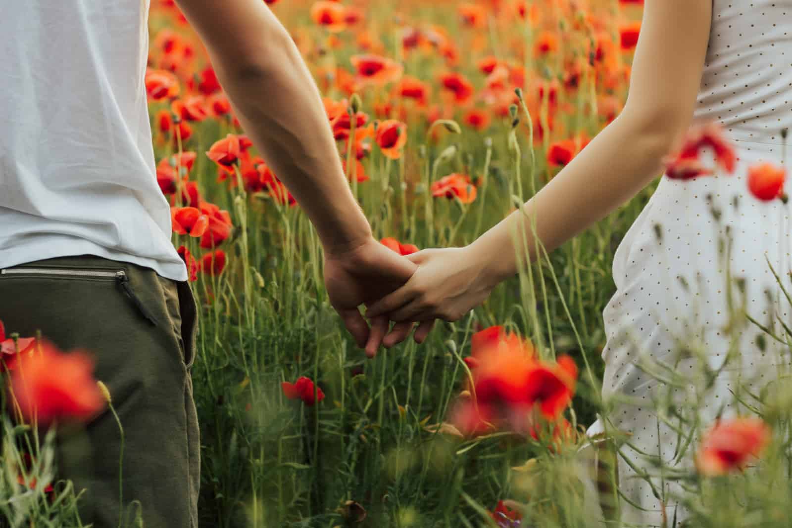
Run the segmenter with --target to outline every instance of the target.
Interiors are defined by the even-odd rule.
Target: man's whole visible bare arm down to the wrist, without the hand
[[[326,249],[346,251],[371,239],[318,88],[283,25],[264,2],[180,4],[203,36],[243,129],[310,217]]]

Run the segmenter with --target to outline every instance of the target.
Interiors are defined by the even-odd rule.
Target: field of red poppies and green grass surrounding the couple
[[[424,344],[369,358],[329,305],[310,222],[239,126],[204,48],[174,2],[151,3],[157,178],[200,312],[200,526],[627,526],[612,460],[581,447],[608,412],[599,379],[614,252],[657,182],[470,315],[438,322]],[[314,74],[375,237],[401,255],[471,243],[611,123],[642,16],[641,0],[268,3]],[[666,164],[671,178],[711,177],[733,170],[733,149],[702,126]],[[786,200],[784,176],[752,168],[746,199]],[[87,358],[11,332],[0,325],[13,387],[0,522],[82,526],[79,490],[51,459],[54,432],[18,424],[84,421],[112,400]],[[81,388],[48,378],[52,364]],[[711,390],[662,379],[699,383],[697,398]],[[786,526],[792,392],[762,390],[751,416],[666,417],[690,431],[680,449],[695,466],[646,473],[683,484],[690,526]],[[629,444],[625,432],[607,439]],[[134,512],[124,526],[138,526]]]

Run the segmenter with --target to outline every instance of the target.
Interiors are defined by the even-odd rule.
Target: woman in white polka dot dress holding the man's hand
[[[726,271],[718,260],[724,224],[733,236],[731,268],[746,279],[748,313],[764,320],[764,290],[778,290],[765,256],[781,277],[790,270],[790,206],[781,200],[752,199],[746,183],[747,168],[756,162],[782,163],[780,131],[792,121],[790,22],[792,0],[645,0],[621,115],[525,204],[525,214],[512,213],[468,247],[411,255],[417,272],[367,314],[390,314],[394,321],[459,319],[481,304],[498,282],[516,273],[514,255],[524,254],[523,248],[505,248],[517,250],[512,232],[521,223],[531,258],[536,256],[528,218],[535,217],[535,233],[552,251],[642,190],[661,173],[664,155],[677,145],[692,118],[707,119],[722,123],[737,145],[736,170],[687,181],[663,178],[620,243],[613,262],[617,290],[603,312],[603,394],[648,402],[657,383],[637,367],[635,344],[654,359],[672,361],[679,349],[674,337],[691,335],[701,340],[707,359],[718,366],[729,345],[722,331]],[[738,208],[732,204],[735,195],[742,198]],[[711,216],[710,208],[723,213],[721,221]],[[771,361],[752,345],[756,332],[745,332],[742,338],[750,364],[754,359],[757,364]],[[717,398],[729,398],[729,383],[718,386],[709,403]],[[705,405],[701,412],[705,419],[714,419],[718,409]],[[616,428],[632,434],[636,447],[661,452],[666,461],[672,458],[676,434],[658,424],[655,413],[617,403],[610,416]],[[598,421],[589,433],[602,430]],[[646,466],[637,454],[623,454]],[[638,506],[623,501],[625,521],[661,526],[664,502],[665,515],[673,518],[673,501],[658,500],[645,481],[630,478],[635,472],[624,460],[619,476],[620,489]],[[658,482],[657,488],[663,496],[668,483],[660,489]]]

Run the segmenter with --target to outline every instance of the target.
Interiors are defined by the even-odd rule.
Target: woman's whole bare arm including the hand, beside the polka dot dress
[[[535,259],[600,221],[652,181],[691,121],[710,35],[711,0],[646,0],[630,92],[617,119],[534,197],[468,247],[411,255],[418,270],[372,305],[395,321],[459,319],[517,271],[513,235]],[[520,225],[521,224],[521,225]],[[521,255],[525,251],[520,251]],[[387,344],[387,343],[386,343]]]

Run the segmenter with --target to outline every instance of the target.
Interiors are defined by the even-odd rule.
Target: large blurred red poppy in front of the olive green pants
[[[89,421],[105,409],[105,398],[93,379],[88,353],[62,353],[48,341],[35,353],[19,356],[11,373],[13,397],[22,415],[39,424],[51,421]]]

